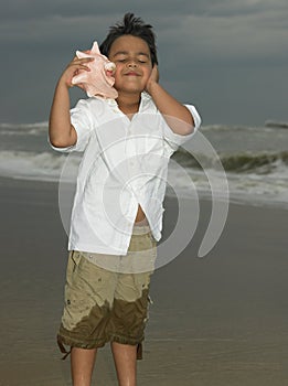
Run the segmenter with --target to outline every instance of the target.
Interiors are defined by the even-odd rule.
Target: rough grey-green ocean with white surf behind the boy
[[[168,196],[210,197],[214,189],[210,174],[217,176],[220,197],[227,182],[232,202],[288,208],[287,128],[212,125],[202,126],[195,136],[214,152],[201,154],[193,139],[179,148],[170,162]],[[55,182],[66,160],[50,148],[47,122],[0,124],[0,176]],[[79,154],[70,156],[70,162],[73,178]]]

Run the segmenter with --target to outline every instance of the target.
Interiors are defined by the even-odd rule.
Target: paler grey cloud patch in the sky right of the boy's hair
[[[249,2],[255,7],[257,1]],[[174,28],[162,25],[160,41],[166,49],[175,50],[168,57],[170,62],[175,57],[181,62],[185,55],[202,65],[282,63],[288,58],[288,12],[280,10],[238,12],[233,17],[185,15]]]

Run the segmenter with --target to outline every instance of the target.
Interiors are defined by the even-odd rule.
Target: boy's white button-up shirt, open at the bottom
[[[195,128],[201,118],[191,111]],[[71,217],[68,249],[126,255],[138,205],[157,242],[161,238],[168,162],[193,133],[174,133],[142,93],[130,120],[116,100],[81,99],[71,110],[77,142],[57,151],[84,151]]]

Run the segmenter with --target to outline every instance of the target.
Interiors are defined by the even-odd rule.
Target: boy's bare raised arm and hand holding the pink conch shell
[[[67,148],[76,143],[77,133],[71,125],[70,118],[70,88],[72,78],[78,69],[89,71],[85,63],[92,58],[75,57],[61,75],[56,85],[49,121],[49,137],[53,146],[57,148]]]

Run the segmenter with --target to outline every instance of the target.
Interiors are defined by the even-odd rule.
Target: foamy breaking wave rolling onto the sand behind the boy
[[[0,151],[0,175],[13,179],[34,181],[63,181],[62,170],[65,161],[70,157],[68,168],[65,168],[65,182],[75,182],[77,168],[81,162],[81,154],[58,154],[50,151],[41,153],[28,151]],[[200,196],[210,197],[211,186],[204,173],[205,167],[200,165],[193,157],[182,149],[177,157],[177,163],[186,170],[186,174],[179,173],[179,167],[171,162],[169,168],[169,184],[167,195],[174,195],[174,187],[183,197],[191,199],[191,190],[188,189],[186,178],[191,178],[192,185]],[[179,162],[179,159],[181,161]],[[288,152],[281,153],[253,153],[234,154],[221,157],[226,178],[230,185],[230,196],[238,203],[280,205],[288,207]],[[185,163],[185,165],[183,164]],[[213,165],[213,160],[207,160],[207,164]],[[193,165],[188,167],[188,165]],[[196,167],[195,167],[196,165]],[[230,169],[230,170],[228,170]],[[267,172],[269,170],[269,173]],[[213,170],[214,179],[221,189],[223,173]],[[239,178],[241,175],[241,178]],[[169,189],[172,183],[173,189]],[[221,192],[217,193],[221,196]]]

